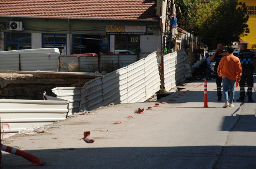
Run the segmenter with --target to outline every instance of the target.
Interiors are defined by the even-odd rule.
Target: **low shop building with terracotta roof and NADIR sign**
[[[58,48],[61,55],[161,49],[154,0],[1,0],[0,51]]]

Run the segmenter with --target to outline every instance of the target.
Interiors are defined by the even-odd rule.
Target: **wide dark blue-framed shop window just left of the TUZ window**
[[[109,36],[106,35],[72,35],[72,54],[107,54]]]

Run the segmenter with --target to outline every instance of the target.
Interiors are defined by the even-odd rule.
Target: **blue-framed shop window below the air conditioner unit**
[[[5,33],[5,51],[31,49],[31,33]]]

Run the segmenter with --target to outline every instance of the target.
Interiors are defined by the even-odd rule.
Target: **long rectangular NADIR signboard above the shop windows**
[[[145,35],[146,26],[107,25],[106,34],[107,35]]]

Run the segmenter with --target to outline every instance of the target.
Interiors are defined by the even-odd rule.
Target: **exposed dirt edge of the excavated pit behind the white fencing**
[[[72,74],[52,77],[37,73],[0,73],[0,99],[43,100],[43,92],[48,96],[55,87],[83,87],[93,78],[77,77]]]

